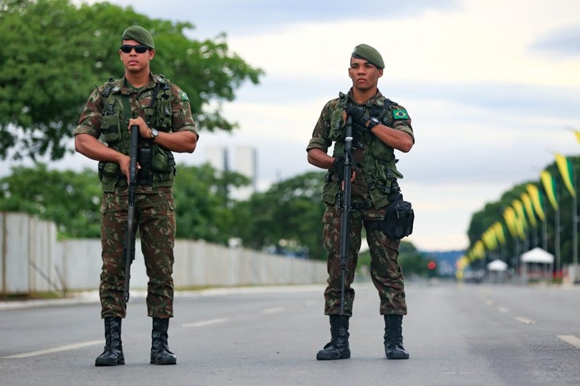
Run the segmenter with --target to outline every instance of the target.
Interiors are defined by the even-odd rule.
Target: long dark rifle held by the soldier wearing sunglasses
[[[129,186],[127,205],[127,232],[123,256],[125,256],[125,302],[129,301],[129,280],[131,279],[131,263],[135,260],[135,194],[137,191],[137,141],[139,126],[131,126],[131,148],[129,149]]]

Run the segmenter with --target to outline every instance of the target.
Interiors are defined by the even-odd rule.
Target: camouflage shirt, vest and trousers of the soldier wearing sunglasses
[[[151,103],[155,89],[155,103]],[[195,134],[189,99],[176,85],[162,76],[150,74],[147,85],[136,90],[125,78],[112,80],[89,97],[79,119],[76,134],[90,134],[109,147],[128,155],[131,139],[130,118],[142,116],[149,127],[160,131],[190,131]],[[173,154],[155,143],[139,139],[139,146],[151,146],[153,161],[148,181],[137,186],[135,222],[144,255],[147,276],[148,316],[173,316],[173,244],[175,203],[173,201]],[[101,244],[103,267],[99,295],[101,317],[124,317],[124,237],[127,227],[128,189],[117,163],[99,163],[103,189],[101,203]],[[135,230],[135,232],[137,229]]]

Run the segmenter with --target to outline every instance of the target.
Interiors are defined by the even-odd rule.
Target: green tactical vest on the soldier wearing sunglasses
[[[110,78],[103,87],[103,113],[101,115],[102,140],[109,148],[129,155],[131,147],[131,132],[127,123],[131,116],[131,101],[128,95],[122,94],[122,79]],[[171,131],[171,88],[170,83],[162,75],[155,76],[155,88],[139,91],[140,110],[144,112],[144,120],[148,127],[157,128],[162,132]],[[133,114],[137,116],[136,114]],[[153,187],[172,186],[175,176],[175,159],[171,151],[162,148],[151,140],[139,138],[139,170],[138,180],[141,185]],[[116,187],[127,185],[126,176],[121,173],[115,162],[99,162],[99,179],[104,192],[115,192]]]

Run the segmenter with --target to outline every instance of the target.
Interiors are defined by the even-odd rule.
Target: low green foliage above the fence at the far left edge
[[[101,186],[97,173],[13,167],[0,179],[0,211],[54,221],[60,237],[99,237]]]

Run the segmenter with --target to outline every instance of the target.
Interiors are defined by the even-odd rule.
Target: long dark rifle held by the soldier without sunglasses
[[[349,223],[351,207],[351,172],[352,172],[352,117],[347,117],[345,132],[345,178],[342,181],[342,213],[340,214],[340,269],[342,284],[340,287],[340,315],[345,314],[345,281],[347,276],[347,254],[349,250]]]

